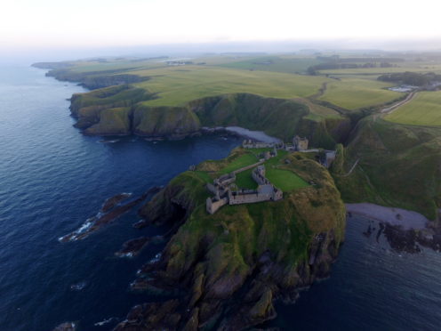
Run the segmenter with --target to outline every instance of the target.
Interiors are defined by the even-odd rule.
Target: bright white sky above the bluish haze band
[[[365,40],[430,41],[441,39],[441,25],[437,23],[441,4],[437,3],[437,0],[2,0],[0,50],[244,41],[352,40],[358,44]]]

